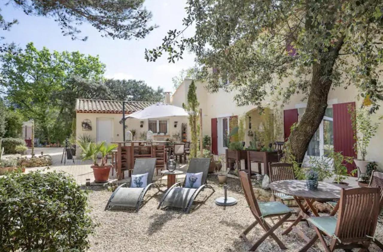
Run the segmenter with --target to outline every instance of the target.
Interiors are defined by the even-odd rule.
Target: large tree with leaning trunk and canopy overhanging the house
[[[306,112],[289,137],[298,162],[332,88],[355,85],[372,101],[371,113],[383,100],[381,0],[188,0],[186,13],[185,28],[169,31],[160,46],[146,50],[147,61],[167,54],[175,62],[189,48],[208,90],[237,90],[238,105],[262,107],[271,95],[287,102],[305,94]],[[184,31],[192,26],[195,34],[188,37]]]

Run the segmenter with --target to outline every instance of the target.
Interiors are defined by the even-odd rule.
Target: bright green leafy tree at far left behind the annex
[[[0,93],[6,95],[9,103],[19,108],[26,119],[35,120],[36,133],[47,142],[60,140],[50,139],[50,132],[60,129],[56,124],[62,104],[56,95],[67,88],[69,77],[101,80],[105,70],[98,57],[79,52],[50,52],[45,47],[39,51],[33,43],[27,44],[20,53],[2,54],[0,61]]]

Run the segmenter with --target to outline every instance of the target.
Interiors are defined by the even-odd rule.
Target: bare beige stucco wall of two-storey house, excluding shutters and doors
[[[172,104],[178,105],[186,102],[187,99],[187,91],[188,85],[190,85],[191,80],[185,79],[185,81],[180,85],[180,87],[176,90],[176,92],[172,96]],[[285,83],[287,83],[286,80]],[[255,106],[236,106],[234,101],[234,95],[236,91],[227,93],[224,90],[219,90],[217,93],[208,93],[205,89],[205,83],[196,82],[197,86],[197,98],[200,102],[200,108],[203,110],[203,135],[211,136],[211,118],[219,118],[225,116],[244,116],[246,113],[251,111],[252,113],[252,123],[256,123],[257,115],[255,112]],[[354,86],[350,86],[347,89],[342,87],[335,88],[334,90],[330,90],[328,96],[328,104],[331,106],[336,103],[345,103],[355,101],[356,107],[360,108],[362,105],[362,99],[358,100],[358,90]],[[263,102],[264,105],[270,102],[270,97],[266,97]],[[286,110],[291,108],[303,107],[307,103],[307,100],[304,99],[302,94],[294,95],[291,97],[291,100],[288,104],[284,106],[280,106],[280,110]],[[383,105],[383,104],[381,104]],[[280,113],[280,112],[279,112]],[[372,115],[372,120],[374,122],[378,121],[378,118],[383,115],[383,108],[377,111],[376,114]],[[254,119],[253,119],[254,116]],[[282,128],[280,136],[283,136],[283,113],[279,115],[275,115],[280,119],[280,124]],[[248,130],[248,121],[246,120],[246,133]],[[249,144],[250,137],[245,137],[246,145]],[[381,145],[381,140],[383,139],[383,120],[381,120],[381,124],[378,128],[377,134],[370,142],[370,145],[367,149],[367,159],[378,162],[378,165],[381,169],[383,169],[383,146]],[[282,139],[279,139],[282,140]]]

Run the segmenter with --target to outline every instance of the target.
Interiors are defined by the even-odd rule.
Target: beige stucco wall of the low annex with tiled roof
[[[119,121],[122,118],[122,114],[113,114],[113,113],[76,113],[76,137],[79,139],[79,137],[82,134],[88,134],[93,139],[97,140],[97,118],[110,118],[113,121],[113,127],[112,127],[112,141],[123,141],[123,129],[122,124],[119,123]],[[82,121],[84,119],[89,119],[92,123],[92,130],[91,131],[83,131],[82,129]],[[153,118],[156,119],[156,118]],[[187,123],[187,117],[186,116],[173,116],[169,118],[160,118],[161,120],[169,120],[169,134],[164,136],[157,136],[154,135],[155,140],[165,140],[167,138],[172,138],[173,134],[180,133],[181,136],[181,124]],[[141,121],[144,122],[143,127],[141,128]],[[174,122],[177,121],[177,127],[174,127]],[[126,119],[126,125],[128,128],[126,130],[136,130],[136,134],[134,136],[134,140],[142,140],[140,139],[140,133],[146,133],[149,130],[149,124],[148,119],[134,119],[134,118],[128,118]]]

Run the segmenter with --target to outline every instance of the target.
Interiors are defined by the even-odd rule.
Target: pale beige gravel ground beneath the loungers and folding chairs
[[[231,185],[228,194],[238,200],[237,205],[224,208],[214,203],[215,198],[223,196],[223,187],[220,187],[216,177],[212,176],[208,178],[208,183],[216,192],[209,198],[207,197],[211,194],[210,189],[200,193],[195,209],[190,214],[171,209],[157,210],[162,193],[156,194],[156,189],[148,191],[147,203],[138,213],[121,210],[104,211],[111,192],[100,188],[94,189],[90,192],[89,203],[92,208],[92,219],[97,227],[90,237],[90,251],[248,251],[249,247],[239,239],[239,234],[254,221],[254,217],[247,207],[242,191],[238,191],[239,180],[229,178],[228,182]],[[267,220],[272,224],[278,219],[274,218],[271,222],[270,219]],[[313,229],[308,228],[306,224],[301,223],[299,227],[309,237],[314,235]],[[292,252],[303,247],[304,241],[297,234],[291,232],[287,236],[282,236],[280,234],[282,231],[283,229],[279,228],[275,234],[288,247],[287,250],[281,250],[275,241],[268,238],[257,251]],[[255,242],[262,234],[264,232],[257,225],[249,233],[248,238]],[[380,223],[375,236],[383,241],[383,225]],[[324,250],[318,241],[309,251]],[[370,251],[381,250],[371,245]]]

